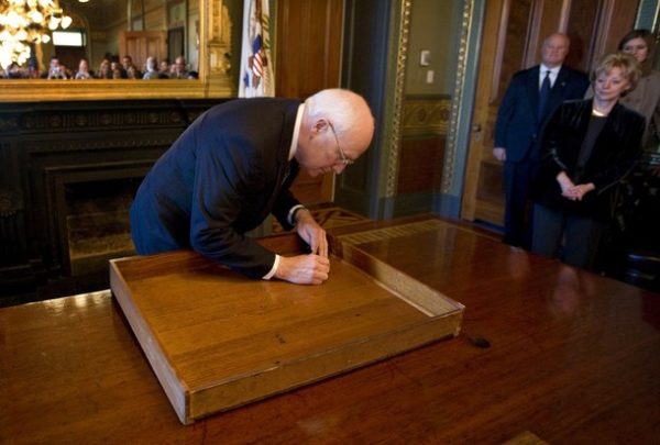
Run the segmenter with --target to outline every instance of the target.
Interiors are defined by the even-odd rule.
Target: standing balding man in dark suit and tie
[[[514,75],[497,113],[493,155],[504,163],[504,242],[529,247],[528,207],[539,166],[540,133],[551,111],[569,99],[582,99],[585,74],[563,66],[570,41],[551,34],[541,47],[541,64]]]

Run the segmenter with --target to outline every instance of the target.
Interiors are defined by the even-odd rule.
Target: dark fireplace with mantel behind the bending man
[[[107,288],[108,259],[134,254],[128,209],[142,178],[218,102],[3,104],[0,305]]]

